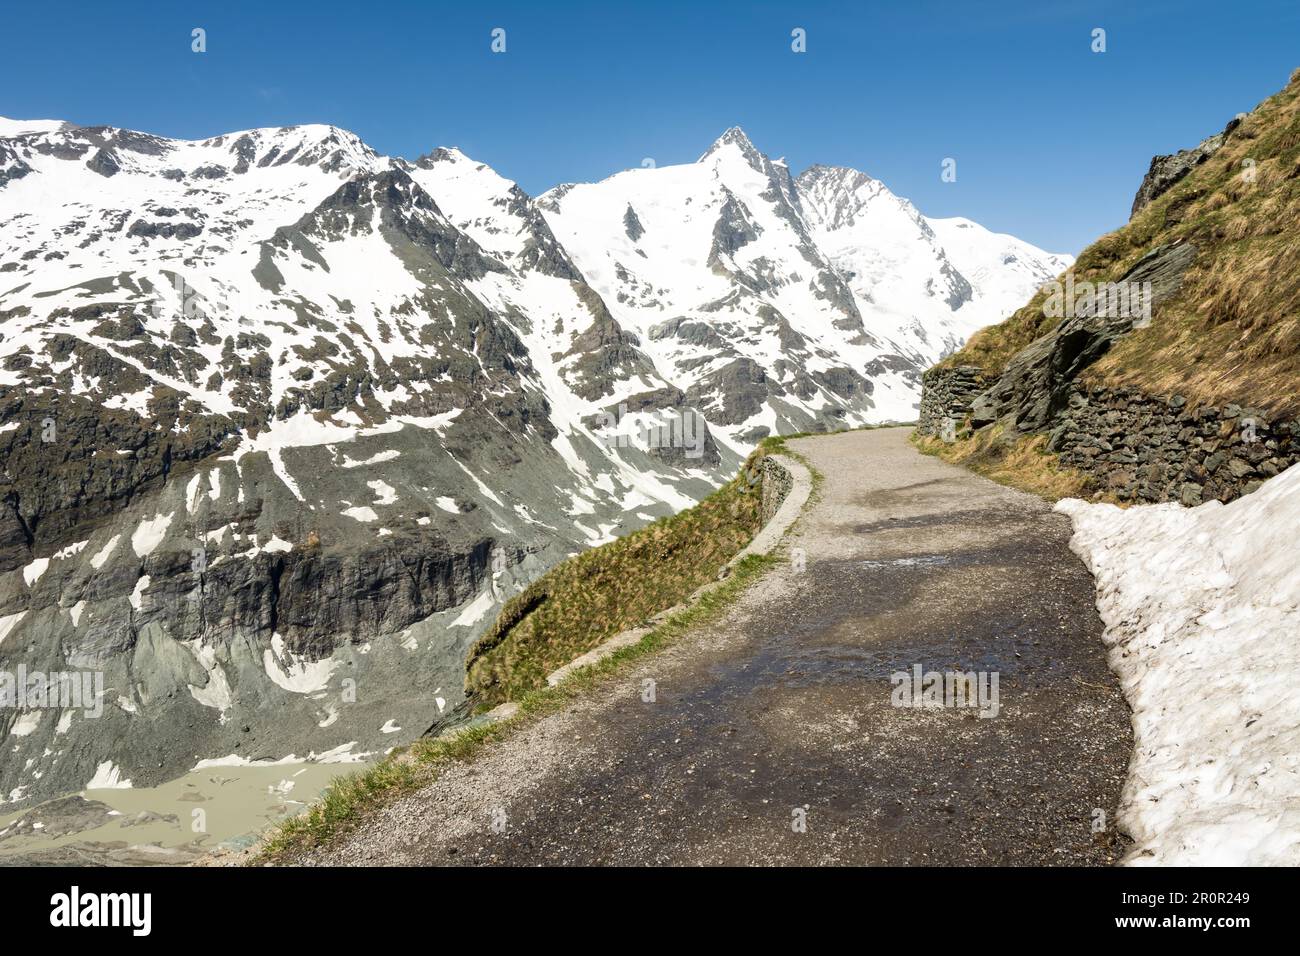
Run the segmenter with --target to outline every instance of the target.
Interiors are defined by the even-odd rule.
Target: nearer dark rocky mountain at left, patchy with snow
[[[680,455],[586,424],[694,410],[532,200],[489,183],[480,243],[436,165],[0,139],[5,803],[382,753],[455,713],[508,593],[740,460],[703,419]]]

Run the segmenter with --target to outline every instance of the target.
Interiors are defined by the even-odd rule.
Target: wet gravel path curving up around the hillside
[[[803,570],[299,862],[1117,860],[1130,718],[1069,520],[907,433],[792,442]],[[916,665],[996,672],[997,715],[894,706]]]

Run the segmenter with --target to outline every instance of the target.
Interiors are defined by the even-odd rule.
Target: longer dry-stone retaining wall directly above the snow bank
[[[1300,462],[1300,421],[1180,395],[1074,388],[1048,449],[1121,501],[1228,502]]]

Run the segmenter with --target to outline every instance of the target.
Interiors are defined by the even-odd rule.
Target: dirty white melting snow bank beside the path
[[[1127,862],[1300,864],[1300,467],[1226,506],[1057,511],[1134,710]]]

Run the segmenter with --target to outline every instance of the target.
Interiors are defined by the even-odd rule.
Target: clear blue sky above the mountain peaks
[[[1153,153],[1280,88],[1297,39],[1296,0],[10,3],[0,116],[328,122],[391,155],[460,146],[534,195],[740,125],[794,172],[852,165],[930,216],[1078,252],[1124,222]]]

